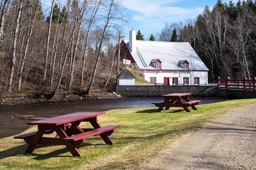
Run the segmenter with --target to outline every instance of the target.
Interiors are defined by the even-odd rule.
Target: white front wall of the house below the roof
[[[194,85],[194,77],[199,77],[199,84],[208,83],[208,71],[142,71],[145,80],[150,82],[150,77],[156,77],[156,83],[163,83],[164,77],[169,77],[170,85],[172,78],[178,78],[178,84],[183,85],[183,77],[189,77],[189,85]]]

